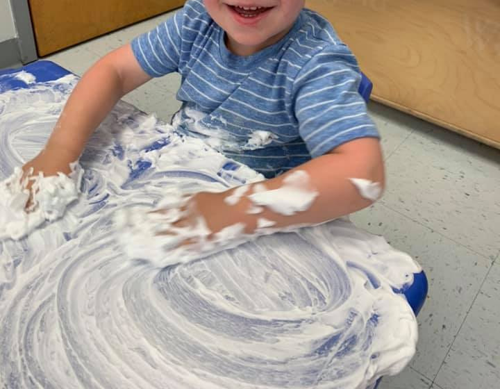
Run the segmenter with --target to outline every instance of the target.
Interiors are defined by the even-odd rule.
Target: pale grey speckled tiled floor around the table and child
[[[82,74],[166,17],[45,59]],[[176,75],[153,80],[125,100],[169,120],[178,83]],[[498,387],[500,151],[378,104],[369,110],[383,135],[389,184],[382,201],[352,219],[411,254],[430,281],[417,355],[381,389]]]

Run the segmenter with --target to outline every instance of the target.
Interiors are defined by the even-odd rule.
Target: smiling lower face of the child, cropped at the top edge
[[[204,0],[210,17],[226,31],[228,49],[240,56],[249,56],[283,38],[299,16],[304,2]]]

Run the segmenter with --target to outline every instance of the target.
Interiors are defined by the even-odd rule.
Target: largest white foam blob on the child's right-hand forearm
[[[308,210],[318,193],[310,189],[309,175],[303,170],[288,174],[281,188],[263,190],[264,185],[254,188],[249,199],[256,206],[265,206],[285,216]],[[257,185],[256,185],[257,187]],[[256,191],[257,189],[257,191]]]

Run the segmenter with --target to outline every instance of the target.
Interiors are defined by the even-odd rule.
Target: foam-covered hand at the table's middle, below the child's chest
[[[155,210],[123,208],[115,216],[117,239],[130,258],[162,266],[212,253],[233,241],[240,244],[246,240],[246,225],[228,212],[226,197],[226,192],[167,194]]]

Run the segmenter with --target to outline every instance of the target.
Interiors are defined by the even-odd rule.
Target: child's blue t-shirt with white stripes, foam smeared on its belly
[[[289,33],[251,56],[228,51],[201,0],[132,42],[153,77],[178,72],[180,131],[207,138],[267,177],[356,138],[378,137],[358,93],[356,58],[331,24],[303,9]]]

